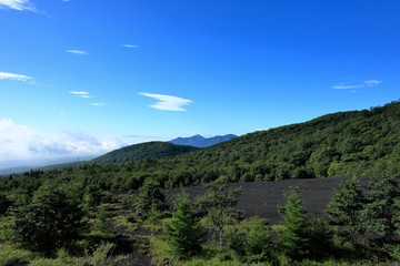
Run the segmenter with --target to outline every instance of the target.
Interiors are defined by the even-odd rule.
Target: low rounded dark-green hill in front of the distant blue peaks
[[[197,150],[192,146],[174,145],[168,142],[146,142],[109,152],[90,163],[124,163],[143,158],[172,157]]]

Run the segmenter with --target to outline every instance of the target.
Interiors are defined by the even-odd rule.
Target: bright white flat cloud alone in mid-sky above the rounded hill
[[[147,92],[139,92],[139,94],[158,100],[159,102],[150,105],[150,108],[158,109],[158,110],[186,111],[186,109],[183,109],[183,106],[189,105],[193,102],[188,99],[171,96],[171,95],[152,94],[152,93],[147,93]]]

